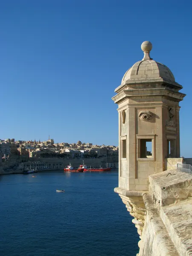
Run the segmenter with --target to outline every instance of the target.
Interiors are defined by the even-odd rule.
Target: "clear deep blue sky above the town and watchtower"
[[[187,94],[181,155],[192,157],[191,10],[177,0],[1,1],[0,138],[118,145],[111,97],[148,40]]]

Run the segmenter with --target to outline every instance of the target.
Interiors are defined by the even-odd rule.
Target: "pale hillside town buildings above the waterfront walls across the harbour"
[[[80,140],[77,143],[54,143],[50,138],[42,142],[40,140],[0,140],[0,150],[3,159],[118,157],[118,147],[113,145],[93,145],[81,143]]]

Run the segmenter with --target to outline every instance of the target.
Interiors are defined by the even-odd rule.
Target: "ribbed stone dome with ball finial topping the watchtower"
[[[130,80],[162,80],[175,83],[175,78],[169,67],[154,61],[150,58],[152,44],[149,41],[143,42],[141,49],[144,57],[141,61],[137,61],[122,78],[122,84]]]

